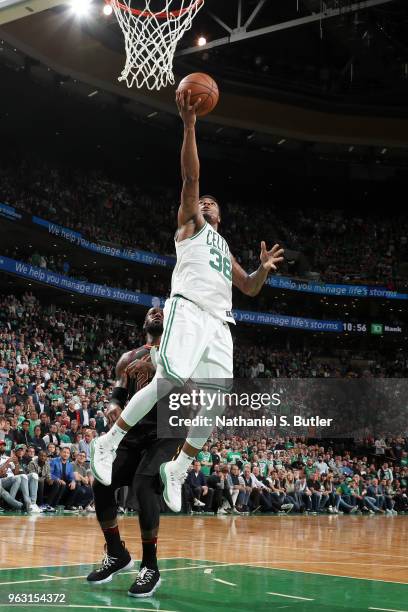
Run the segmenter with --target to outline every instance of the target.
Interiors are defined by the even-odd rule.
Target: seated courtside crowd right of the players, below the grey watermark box
[[[218,514],[406,513],[407,451],[403,437],[341,449],[289,437],[212,440],[187,476],[185,503]]]

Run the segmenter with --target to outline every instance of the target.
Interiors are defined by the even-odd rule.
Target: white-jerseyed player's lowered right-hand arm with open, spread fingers
[[[255,297],[258,295],[263,285],[265,284],[268,274],[273,271],[275,272],[278,265],[283,261],[283,249],[278,244],[272,247],[270,251],[267,250],[265,242],[261,242],[261,254],[259,259],[261,265],[252,274],[247,274],[245,270],[239,265],[235,257],[232,259],[232,282],[242,293]]]

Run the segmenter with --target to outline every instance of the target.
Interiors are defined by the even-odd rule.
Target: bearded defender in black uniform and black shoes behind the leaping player
[[[107,413],[111,425],[120,416],[127,401],[154,376],[151,351],[159,346],[163,332],[161,308],[151,308],[147,312],[143,330],[146,333],[146,344],[124,353],[116,365],[116,383]],[[115,574],[133,567],[131,556],[121,541],[115,500],[115,491],[129,486],[133,487],[140,508],[143,557],[140,571],[128,594],[133,597],[149,597],[160,585],[156,554],[162,488],[159,468],[164,461],[177,455],[181,442],[157,439],[156,406],[129,430],[120,443],[113,463],[112,484],[106,487],[95,479],[95,510],[106,545],[102,565],[89,574],[88,582],[110,582]]]

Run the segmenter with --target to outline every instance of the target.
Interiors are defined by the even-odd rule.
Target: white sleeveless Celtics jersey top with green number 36
[[[228,244],[209,223],[191,238],[176,241],[171,296],[182,295],[223,321],[232,316],[232,262]]]

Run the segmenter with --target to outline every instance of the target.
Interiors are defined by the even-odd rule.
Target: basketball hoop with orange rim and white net
[[[191,28],[204,0],[162,0],[160,12],[132,7],[132,0],[106,0],[112,7],[125,37],[126,64],[119,81],[161,89],[174,85],[173,58],[177,43]]]

